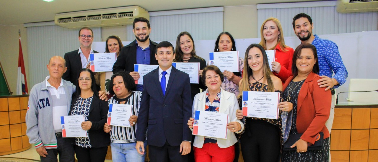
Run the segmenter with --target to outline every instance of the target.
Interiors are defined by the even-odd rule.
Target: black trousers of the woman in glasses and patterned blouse
[[[78,162],[104,162],[108,147],[83,148],[75,146]]]

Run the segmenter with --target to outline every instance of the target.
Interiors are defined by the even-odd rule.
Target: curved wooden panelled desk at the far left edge
[[[0,96],[0,155],[19,153],[31,145],[25,115],[29,95]]]

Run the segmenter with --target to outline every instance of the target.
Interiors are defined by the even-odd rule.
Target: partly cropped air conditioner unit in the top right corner
[[[337,12],[372,12],[378,11],[378,0],[338,0]]]

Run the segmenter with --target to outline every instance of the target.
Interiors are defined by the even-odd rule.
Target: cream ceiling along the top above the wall
[[[121,6],[140,6],[147,11],[243,6],[263,3],[308,2],[321,0],[0,0],[0,25],[53,21],[57,13]]]

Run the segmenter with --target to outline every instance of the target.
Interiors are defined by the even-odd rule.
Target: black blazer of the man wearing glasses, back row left
[[[63,79],[70,81],[73,85],[76,86],[77,76],[79,75],[79,71],[83,68],[81,64],[81,58],[79,53],[79,49],[75,51],[67,52],[64,54],[64,59],[66,60],[66,67],[67,71],[63,74]],[[98,53],[97,51],[93,51],[93,53]]]

